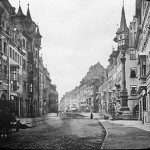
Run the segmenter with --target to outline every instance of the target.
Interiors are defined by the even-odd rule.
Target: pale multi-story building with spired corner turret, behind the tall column
[[[105,104],[107,103],[105,109],[103,110],[109,114],[127,107],[128,110],[126,109],[126,111],[128,111],[128,117],[133,116],[133,114],[135,115],[135,117],[138,117],[138,114],[136,114],[138,111],[138,59],[136,49],[134,48],[135,34],[137,32],[136,26],[137,25],[135,23],[134,17],[133,21],[130,23],[129,28],[127,27],[123,6],[120,28],[118,29],[116,37],[114,38],[114,41],[118,43],[118,47],[116,51],[113,49],[111,55],[109,56],[109,65],[106,69],[106,81],[99,88],[101,99],[103,100],[101,101],[101,106],[105,106]],[[127,43],[127,48],[125,49],[125,65],[123,66],[123,53],[122,49],[120,49],[120,41],[124,39],[125,36],[122,35],[124,33],[127,33],[126,35],[129,35],[127,36],[129,42]],[[124,73],[123,67],[125,67]],[[123,77],[125,77],[125,81],[123,80]],[[126,99],[127,106],[124,106],[124,102],[121,99],[121,91],[123,86],[125,86],[128,94]],[[106,90],[106,92],[104,89]]]

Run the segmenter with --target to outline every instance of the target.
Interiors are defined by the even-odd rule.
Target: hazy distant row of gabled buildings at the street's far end
[[[91,66],[80,85],[66,92],[59,103],[61,111],[98,112],[98,89],[104,81],[104,67],[98,62]]]

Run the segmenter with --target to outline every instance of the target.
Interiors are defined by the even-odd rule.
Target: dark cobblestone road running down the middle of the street
[[[46,124],[14,133],[0,143],[0,148],[96,150],[101,148],[104,136],[96,119],[69,114],[50,117]]]

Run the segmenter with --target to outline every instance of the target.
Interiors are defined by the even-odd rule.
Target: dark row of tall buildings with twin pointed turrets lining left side
[[[29,4],[24,15],[8,0],[0,1],[0,99],[15,103],[16,115],[40,116],[56,111],[58,92],[43,65],[39,26]]]

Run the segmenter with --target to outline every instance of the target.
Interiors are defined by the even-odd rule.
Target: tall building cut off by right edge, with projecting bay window
[[[150,2],[136,0],[135,18],[137,33],[135,48],[138,52],[139,73],[139,119],[143,123],[150,122]]]

